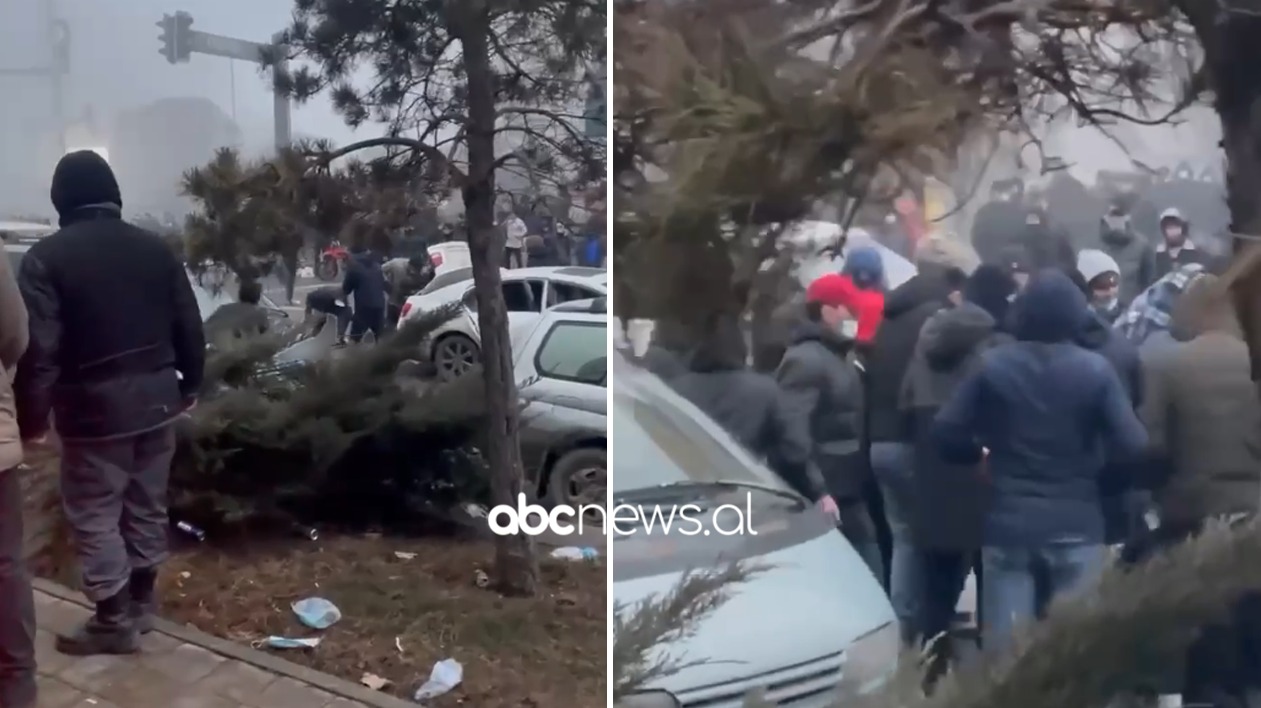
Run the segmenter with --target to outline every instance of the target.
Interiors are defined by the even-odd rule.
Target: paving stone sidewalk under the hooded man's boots
[[[136,656],[64,656],[53,637],[88,615],[72,597],[43,582],[35,589],[39,708],[415,705],[170,623],[145,636]]]

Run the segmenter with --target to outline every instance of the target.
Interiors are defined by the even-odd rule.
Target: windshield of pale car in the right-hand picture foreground
[[[661,485],[721,481],[787,488],[665,384],[641,381],[632,389],[614,389],[613,394],[615,495]]]

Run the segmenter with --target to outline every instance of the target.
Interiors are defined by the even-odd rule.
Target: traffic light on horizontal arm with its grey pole
[[[241,59],[256,64],[271,66],[272,76],[272,114],[275,120],[276,150],[282,150],[293,144],[293,121],[289,97],[280,90],[279,80],[289,69],[284,59],[284,35],[277,33],[270,43],[250,42],[236,37],[224,37],[209,32],[192,29],[193,16],[180,11],[164,16],[158,27],[161,28],[163,40],[161,54],[166,61],[185,63],[192,54],[206,54],[209,57],[223,57],[227,59]],[[267,62],[267,58],[275,61]]]

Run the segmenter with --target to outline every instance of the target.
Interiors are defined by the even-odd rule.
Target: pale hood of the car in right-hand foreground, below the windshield
[[[839,531],[748,562],[770,568],[730,588],[728,601],[692,636],[658,647],[662,655],[702,663],[653,688],[682,697],[690,689],[817,660],[894,620],[875,577]],[[618,605],[633,607],[670,592],[682,578],[682,572],[671,572],[615,579],[614,596]]]

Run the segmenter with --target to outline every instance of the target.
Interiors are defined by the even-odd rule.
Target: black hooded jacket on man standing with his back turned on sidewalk
[[[30,247],[18,274],[30,313],[14,381],[23,434],[45,432],[50,413],[64,440],[171,423],[200,389],[206,361],[184,265],[159,236],[122,221],[119,184],[96,153],[62,158],[52,198],[62,228]]]

